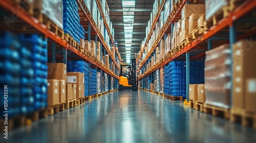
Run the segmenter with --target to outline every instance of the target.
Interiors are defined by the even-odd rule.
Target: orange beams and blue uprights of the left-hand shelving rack
[[[100,54],[101,56],[100,61],[97,60],[96,57],[92,57],[87,54],[81,53],[79,50],[76,49],[76,47],[72,46],[67,41],[63,40],[61,37],[59,37],[55,33],[48,30],[45,25],[42,25],[39,22],[39,20],[37,20],[27,11],[25,10],[19,11],[23,8],[14,4],[12,1],[0,1],[0,7],[5,9],[7,12],[9,12],[10,16],[16,15],[15,20],[12,19],[11,22],[13,23],[18,22],[18,25],[20,27],[22,27],[23,25],[29,26],[31,28],[30,30],[31,33],[40,33],[42,35],[45,35],[46,38],[48,38],[48,52],[50,52],[49,56],[51,56],[50,58],[52,62],[61,61],[62,63],[67,64],[67,60],[87,61],[91,68],[95,68],[97,71],[101,73],[101,77],[103,77],[104,73],[108,74],[109,83],[111,83],[111,77],[113,77],[114,89],[117,89],[119,77],[117,76],[116,73],[118,73],[118,70],[120,70],[120,66],[114,60],[114,56],[120,58],[120,55],[118,55],[117,53],[115,53],[115,55],[111,54],[111,51],[108,45],[106,45],[106,42],[104,41],[103,36],[101,35],[98,27],[96,26],[96,23],[93,20],[91,13],[88,11],[87,7],[84,5],[83,0],[77,0],[76,2],[78,4],[78,7],[80,8],[80,10],[78,11],[80,16],[80,23],[85,29],[88,29],[88,31],[86,32],[88,34],[88,40],[90,41],[91,38],[95,38],[96,47],[97,47],[98,39],[101,42],[102,52]],[[102,18],[104,19],[104,17]],[[81,21],[84,19],[86,20],[86,22]],[[5,27],[4,29],[9,29]],[[12,30],[15,32],[15,29],[12,29]],[[112,39],[112,42],[114,42],[113,39]],[[97,48],[95,49],[96,49],[95,53],[97,53]],[[109,54],[110,65],[113,61],[113,63],[115,64],[116,73],[112,71],[112,67],[108,68],[101,62],[101,60],[103,60],[103,62],[105,61],[105,58],[102,59],[102,53],[104,53],[104,55]],[[89,80],[89,85],[90,85],[90,80]],[[101,85],[101,88],[102,87],[103,86]],[[108,89],[111,90],[111,84],[109,84]],[[101,91],[104,91],[104,90],[101,89]],[[89,90],[89,95],[90,94],[91,92]]]

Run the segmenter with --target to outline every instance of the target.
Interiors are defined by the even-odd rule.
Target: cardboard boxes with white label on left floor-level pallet
[[[79,72],[67,73],[68,79],[68,100],[84,97],[84,74]]]

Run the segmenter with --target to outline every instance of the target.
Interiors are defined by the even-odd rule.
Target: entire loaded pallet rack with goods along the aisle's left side
[[[34,122],[39,117],[58,113],[85,101],[77,101],[77,99],[95,98],[96,96],[89,98],[90,94],[97,93],[97,80],[95,80],[97,77],[94,78],[92,84],[89,80],[91,67],[94,68],[94,71],[100,71],[101,77],[105,77],[100,82],[102,81],[101,85],[107,91],[114,91],[109,89],[117,88],[117,84],[113,84],[112,87],[111,84],[108,84],[109,81],[118,83],[118,76],[113,74],[109,67],[94,60],[90,54],[86,55],[78,51],[80,50],[78,48],[80,39],[88,38],[91,42],[91,37],[95,37],[95,41],[99,41],[97,42],[99,43],[97,55],[110,54],[110,42],[115,45],[114,36],[111,35],[114,34],[113,28],[111,30],[108,28],[106,31],[109,36],[108,41],[104,41],[103,34],[97,31],[97,19],[106,21],[104,15],[99,12],[101,6],[97,2],[94,1],[97,19],[93,19],[91,15],[91,1],[26,2],[28,2],[26,6],[29,8],[20,13],[19,10],[24,9],[24,1],[0,1],[0,11],[5,16],[11,17],[13,13],[19,14],[17,20],[9,24],[2,23],[1,26],[5,30],[0,35],[1,45],[4,46],[0,50],[2,54],[0,83],[3,87],[8,85],[8,102],[10,103],[8,107],[10,125],[8,128],[10,130],[13,127],[25,125],[25,121],[32,120]],[[83,6],[89,6],[90,8],[87,9],[89,12],[84,11]],[[109,27],[109,23],[110,21],[103,22],[101,27]],[[88,28],[89,31],[85,31],[84,28]],[[66,36],[64,36],[63,30]],[[96,35],[92,33],[96,33]],[[93,50],[96,52],[96,43]],[[117,58],[114,59],[115,56]],[[119,73],[117,62],[120,59],[120,54],[116,50],[115,55],[110,56],[106,63],[114,62],[116,73]],[[105,63],[104,59],[103,63]],[[69,74],[71,74],[69,78],[67,78],[67,66]],[[70,71],[72,72],[70,73]],[[80,73],[78,74],[78,72]],[[95,73],[93,73],[94,76]],[[78,80],[74,80],[74,77]],[[90,94],[89,84],[92,85]],[[4,107],[1,106],[1,109]],[[0,122],[2,129],[2,125],[4,125],[2,119]]]

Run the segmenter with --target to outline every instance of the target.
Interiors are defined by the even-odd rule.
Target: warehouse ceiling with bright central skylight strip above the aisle
[[[154,0],[107,0],[107,2],[122,62],[130,63],[130,59],[135,58],[135,53],[139,53],[141,41],[145,38],[145,29],[150,20]]]

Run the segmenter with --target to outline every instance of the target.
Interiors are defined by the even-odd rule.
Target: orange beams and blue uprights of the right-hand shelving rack
[[[164,3],[164,2],[163,2]],[[237,40],[248,38],[250,36],[255,35],[256,29],[246,29],[244,28],[242,31],[238,29],[237,25],[239,23],[248,22],[248,23],[255,23],[255,20],[251,20],[250,12],[255,10],[256,8],[256,1],[248,0],[241,5],[239,5],[236,9],[233,11],[230,11],[229,15],[227,17],[224,17],[221,19],[217,25],[211,27],[208,31],[206,31],[202,36],[199,36],[191,43],[185,45],[185,47],[181,50],[179,50],[177,53],[167,53],[164,58],[160,59],[158,63],[156,63],[154,66],[152,66],[150,69],[146,69],[146,64],[148,61],[150,61],[151,57],[155,55],[156,47],[159,45],[159,42],[161,39],[166,38],[166,33],[171,30],[173,31],[174,22],[178,21],[179,18],[181,18],[181,9],[186,5],[189,4],[189,1],[183,0],[179,2],[179,5],[177,8],[175,8],[175,14],[170,14],[168,17],[168,20],[166,21],[165,25],[161,29],[157,40],[154,42],[153,46],[151,47],[151,51],[146,55],[144,59],[141,58],[143,51],[145,49],[145,46],[147,42],[145,43],[145,46],[143,48],[143,51],[141,55],[139,55],[139,59],[141,60],[141,63],[139,63],[139,69],[142,69],[142,75],[139,76],[139,80],[141,83],[141,88],[147,88],[147,80],[148,78],[154,77],[155,71],[157,69],[160,69],[161,67],[165,66],[167,63],[174,61],[174,60],[184,60],[186,61],[186,99],[188,101],[188,89],[189,89],[189,61],[193,60],[200,60],[205,56],[205,51],[212,49],[212,47],[216,47],[222,43],[229,43],[230,49],[232,50],[232,45]],[[155,20],[158,20],[159,16],[156,16]],[[155,21],[154,20],[154,21]],[[241,26],[241,25],[239,25]],[[152,27],[151,31],[154,30],[154,26]],[[172,32],[171,32],[172,33]],[[218,36],[217,36],[218,34]],[[147,37],[147,41],[150,38],[151,33]],[[214,43],[212,42],[224,40],[221,42]],[[160,48],[159,48],[160,49]],[[138,69],[138,70],[139,70]],[[138,72],[137,70],[137,72]],[[231,76],[232,77],[232,76]],[[232,101],[232,96],[230,96],[230,101]],[[230,102],[232,103],[232,102]],[[231,105],[232,106],[232,105]]]

